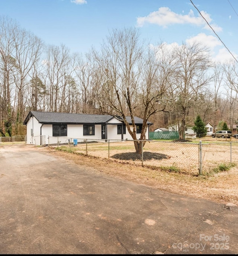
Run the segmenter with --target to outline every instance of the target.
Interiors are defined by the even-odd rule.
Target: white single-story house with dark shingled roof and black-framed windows
[[[131,117],[126,117],[132,129]],[[143,119],[135,117],[136,138],[141,136]],[[30,111],[25,121],[27,127],[27,144],[42,145],[42,135],[51,138],[51,143],[57,143],[58,137],[80,139],[131,140],[127,128],[123,123],[110,115],[87,115],[75,113],[54,113]],[[149,138],[147,122],[146,138]],[[61,140],[65,143],[66,140]]]

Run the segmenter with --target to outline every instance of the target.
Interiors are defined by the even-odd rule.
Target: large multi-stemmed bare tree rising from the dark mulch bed
[[[94,51],[98,63],[100,107],[126,125],[137,153],[141,153],[141,140],[146,139],[149,117],[166,111],[172,74],[172,60],[170,54],[165,54],[163,44],[152,49],[141,43],[139,37],[137,29],[115,29],[103,42],[101,52]],[[143,119],[139,140],[136,138],[136,109]],[[126,119],[128,115],[132,130]]]

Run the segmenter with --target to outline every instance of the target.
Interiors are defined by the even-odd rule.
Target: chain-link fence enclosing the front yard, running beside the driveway
[[[238,141],[202,144],[49,137],[48,143],[79,154],[190,175],[213,172],[220,164],[238,163]]]

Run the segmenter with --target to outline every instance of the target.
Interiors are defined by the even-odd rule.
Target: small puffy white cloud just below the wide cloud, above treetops
[[[199,33],[194,37],[186,39],[186,43],[192,44],[194,41],[200,42],[210,49],[214,49],[216,46],[222,45],[221,41],[213,35],[206,35],[205,33]]]

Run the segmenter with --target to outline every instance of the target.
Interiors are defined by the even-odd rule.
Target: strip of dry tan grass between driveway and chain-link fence
[[[219,172],[211,176],[193,176],[188,174],[160,171],[119,163],[117,160],[108,160],[94,156],[80,156],[61,152],[54,148],[41,148],[51,154],[64,157],[78,165],[90,166],[98,172],[149,185],[153,188],[171,193],[203,198],[219,203],[234,203],[238,205],[238,167],[229,171]]]

